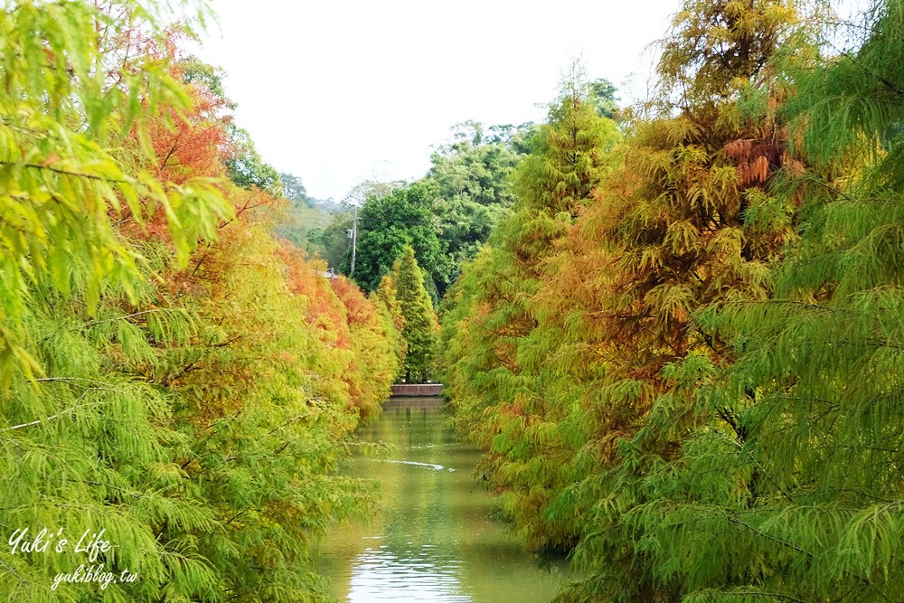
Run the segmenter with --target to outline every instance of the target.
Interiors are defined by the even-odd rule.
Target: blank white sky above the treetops
[[[642,90],[645,48],[679,0],[215,0],[199,54],[223,68],[260,155],[341,200],[366,179],[413,180],[466,119],[541,121],[581,57],[590,79]]]

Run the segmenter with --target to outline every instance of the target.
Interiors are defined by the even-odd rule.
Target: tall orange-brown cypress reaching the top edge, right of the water
[[[706,422],[699,386],[734,358],[730,338],[699,316],[767,299],[768,269],[794,239],[795,204],[774,187],[802,165],[786,154],[777,107],[787,87],[774,61],[799,19],[785,0],[684,2],[662,42],[660,90],[620,149],[625,163],[555,260],[560,275],[541,297],[581,419],[580,429],[562,425],[578,479],[551,513],[585,526],[575,560],[588,570],[564,600],[687,592],[687,576],[669,572],[678,561],[656,555],[635,513],[649,502],[651,473],[670,470]],[[573,308],[567,321],[555,319],[562,306]]]

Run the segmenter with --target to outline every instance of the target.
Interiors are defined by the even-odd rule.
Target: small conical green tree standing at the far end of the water
[[[396,260],[392,281],[404,318],[401,333],[407,344],[405,380],[427,382],[433,372],[439,325],[424,287],[424,274],[411,247],[406,247],[401,258]]]

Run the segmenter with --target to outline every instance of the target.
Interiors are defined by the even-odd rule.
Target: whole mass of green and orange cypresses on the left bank
[[[227,177],[183,10],[0,12],[4,600],[321,600],[313,540],[372,507],[338,469],[400,374],[392,291],[330,283]]]

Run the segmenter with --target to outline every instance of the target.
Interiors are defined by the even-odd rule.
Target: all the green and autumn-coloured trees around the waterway
[[[340,203],[180,6],[0,10],[7,600],[329,600],[354,431],[436,379],[557,601],[904,599],[904,1],[683,0],[648,98],[572,70]]]

